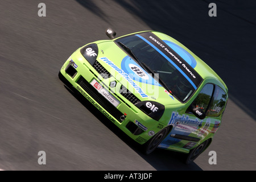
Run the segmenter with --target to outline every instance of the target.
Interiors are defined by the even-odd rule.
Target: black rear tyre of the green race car
[[[196,148],[193,148],[187,155],[187,158],[185,159],[185,164],[191,164],[205,150],[205,148],[208,147],[208,143],[209,139],[205,140]]]

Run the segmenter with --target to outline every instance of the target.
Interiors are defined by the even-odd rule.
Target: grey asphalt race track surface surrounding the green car
[[[38,4],[46,3],[46,17]],[[209,3],[217,5],[210,17]],[[256,170],[255,1],[0,1],[0,169]],[[229,102],[211,146],[191,165],[181,154],[146,156],[57,77],[77,48],[142,30],[164,32],[226,82]],[[46,152],[46,165],[38,152]],[[216,151],[217,164],[208,163]]]

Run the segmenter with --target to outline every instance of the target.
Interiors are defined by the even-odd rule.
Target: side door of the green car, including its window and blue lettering
[[[208,131],[211,120],[209,117],[199,119],[191,112],[191,108],[200,108],[207,112],[214,92],[214,84],[205,84],[192,104],[180,112],[173,111],[169,125],[173,128],[171,133],[162,141],[162,146],[175,146],[183,148],[193,147]]]

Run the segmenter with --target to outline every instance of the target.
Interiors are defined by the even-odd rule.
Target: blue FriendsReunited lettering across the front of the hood
[[[120,75],[123,76],[123,78],[125,78],[125,80],[127,80],[131,86],[133,86],[133,88],[141,95],[141,97],[148,97],[147,94],[145,94],[143,92],[143,90],[141,89],[141,87],[139,87],[134,81],[133,79],[122,69],[118,68],[112,61],[110,61],[107,57],[101,57],[100,58],[102,61],[104,61],[105,63],[109,64],[110,67],[112,67],[115,71],[117,71]]]

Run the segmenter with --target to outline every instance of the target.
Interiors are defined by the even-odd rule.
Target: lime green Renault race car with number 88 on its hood
[[[77,49],[59,78],[75,88],[145,154],[156,147],[187,154],[191,163],[221,124],[228,88],[177,40],[142,31]]]

